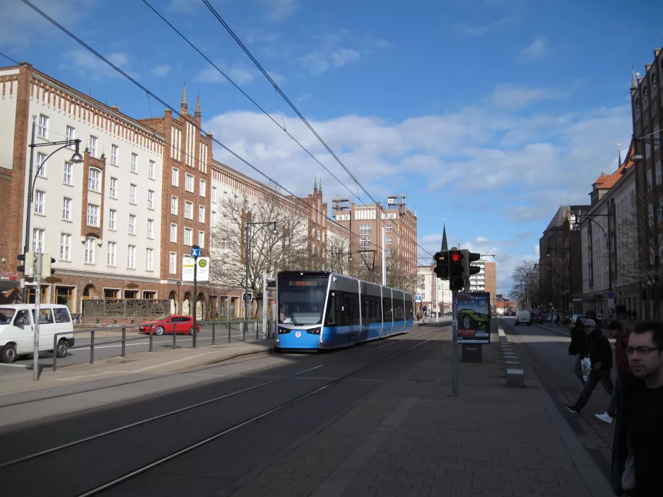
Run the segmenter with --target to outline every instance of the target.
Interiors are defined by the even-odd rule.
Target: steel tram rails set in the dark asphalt
[[[426,335],[432,334],[434,332],[438,332],[442,329],[448,328],[448,326],[443,326],[443,327],[436,327],[435,329],[430,329],[426,332],[419,333],[419,334],[405,334],[403,337],[409,337],[411,339],[416,339],[418,337],[425,337]],[[447,330],[448,331],[448,330]],[[434,338],[434,337],[433,337]],[[404,353],[406,351],[409,351],[411,349],[414,349],[416,346],[420,346],[421,344],[425,344],[431,339],[426,339],[424,341],[420,341],[417,344],[414,344],[412,346],[408,346],[405,349],[401,349],[399,351],[396,351],[395,353],[391,353],[385,357],[379,358],[377,361],[371,361],[368,365],[363,366],[358,369],[351,370],[348,373],[345,373],[343,375],[339,375],[338,378],[331,380],[331,381],[325,381],[323,385],[319,387],[315,387],[313,390],[306,390],[304,392],[299,392],[296,394],[293,398],[287,399],[286,402],[278,402],[274,407],[269,407],[269,409],[263,409],[260,412],[254,413],[251,416],[245,416],[244,419],[238,419],[234,423],[231,423],[230,426],[225,426],[224,428],[216,430],[214,433],[211,435],[206,435],[204,437],[201,437],[196,441],[196,443],[193,444],[187,444],[184,446],[184,448],[178,448],[177,450],[170,451],[168,455],[165,455],[164,457],[160,457],[153,462],[149,464],[145,464],[139,469],[134,469],[130,472],[125,472],[121,476],[112,479],[111,481],[115,482],[112,483],[111,486],[115,486],[115,484],[118,484],[120,481],[125,481],[126,479],[129,479],[133,476],[136,476],[137,474],[141,474],[143,472],[148,471],[149,469],[156,467],[156,465],[163,464],[164,462],[167,462],[169,460],[172,460],[173,458],[177,457],[178,455],[182,455],[186,452],[189,452],[191,450],[194,450],[195,448],[199,447],[200,445],[204,445],[206,443],[209,443],[212,440],[216,440],[217,438],[223,437],[223,435],[226,435],[228,433],[232,433],[233,431],[237,431],[239,428],[242,428],[243,426],[246,426],[247,424],[253,423],[254,421],[258,421],[259,419],[263,419],[265,416],[269,416],[269,414],[274,413],[276,411],[279,411],[281,409],[284,409],[292,404],[295,404],[296,402],[300,402],[303,399],[306,399],[308,397],[311,397],[312,395],[317,394],[318,392],[322,392],[323,390],[327,390],[327,388],[336,385],[337,383],[346,380],[347,378],[350,378],[353,375],[358,375],[359,373],[368,370],[368,368],[372,368],[373,366],[377,366],[377,364],[384,363],[385,361],[388,361],[389,359],[399,356],[401,353]],[[81,438],[78,440],[71,441],[69,443],[64,443],[61,445],[57,445],[52,448],[47,448],[46,450],[41,450],[37,452],[30,453],[28,455],[25,455],[23,457],[18,457],[14,460],[9,460],[7,462],[4,462],[0,464],[0,474],[1,472],[4,472],[8,469],[12,469],[15,471],[16,469],[20,469],[21,466],[24,465],[34,465],[38,464],[42,458],[49,458],[52,456],[57,457],[59,452],[66,452],[68,450],[74,450],[76,448],[80,448],[82,445],[90,445],[94,440],[98,440],[100,438],[107,437],[108,435],[119,435],[120,433],[131,431],[132,428],[138,428],[139,426],[146,425],[146,424],[153,424],[157,421],[164,420],[166,418],[171,418],[171,417],[177,417],[180,414],[187,413],[188,411],[194,411],[196,409],[204,409],[206,407],[210,407],[211,404],[216,404],[217,402],[221,402],[224,399],[230,399],[231,397],[237,397],[240,396],[241,394],[245,394],[247,392],[251,392],[254,390],[258,390],[262,387],[269,387],[270,385],[274,386],[275,384],[279,382],[286,382],[287,380],[292,380],[297,378],[298,376],[303,376],[307,375],[307,373],[312,373],[312,371],[318,370],[319,368],[324,368],[324,367],[329,367],[329,366],[339,366],[343,365],[343,363],[347,363],[351,358],[356,358],[358,356],[364,356],[365,354],[369,353],[376,353],[378,351],[381,351],[382,349],[386,349],[387,347],[392,347],[392,346],[397,346],[399,344],[403,344],[406,342],[404,339],[399,339],[399,340],[394,340],[390,343],[383,344],[378,347],[372,347],[371,349],[365,350],[365,351],[360,351],[358,353],[353,353],[349,356],[343,356],[341,358],[335,358],[332,361],[328,361],[310,368],[305,368],[303,370],[299,370],[295,373],[289,374],[289,375],[284,375],[279,378],[275,378],[272,380],[268,380],[265,382],[260,382],[257,385],[252,385],[250,387],[245,387],[239,390],[234,390],[233,392],[228,392],[226,394],[220,395],[213,397],[211,399],[206,399],[203,402],[196,402],[195,404],[190,404],[185,407],[182,407],[180,409],[173,409],[170,411],[163,412],[161,414],[158,414],[157,416],[151,416],[147,419],[142,419],[140,421],[136,421],[134,423],[127,423],[122,426],[118,426],[116,428],[113,428],[111,430],[103,431],[100,433],[95,433],[93,435],[90,435],[86,438]],[[206,368],[201,368],[199,370],[210,370],[213,368],[218,368],[219,366],[209,366]],[[228,379],[227,377],[225,379]],[[314,378],[315,379],[315,378]],[[190,415],[190,414],[189,414]],[[177,423],[173,424],[173,426],[177,426]],[[111,437],[112,440],[112,437]],[[87,491],[86,493],[80,493],[79,495],[95,495],[95,493],[99,493],[103,489],[109,488],[108,484],[104,484],[102,486],[98,486],[93,490]],[[93,492],[93,493],[90,493]]]

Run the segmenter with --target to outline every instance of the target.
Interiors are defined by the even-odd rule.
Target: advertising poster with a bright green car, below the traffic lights
[[[491,294],[458,293],[458,343],[491,343]]]

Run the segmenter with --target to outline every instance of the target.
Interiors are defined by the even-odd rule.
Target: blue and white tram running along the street
[[[407,333],[414,319],[409,292],[328,271],[276,275],[280,349],[337,349]]]

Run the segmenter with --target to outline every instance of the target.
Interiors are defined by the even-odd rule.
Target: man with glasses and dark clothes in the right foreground
[[[612,449],[615,495],[657,497],[663,467],[663,324],[641,322],[628,337],[633,382],[624,390]]]

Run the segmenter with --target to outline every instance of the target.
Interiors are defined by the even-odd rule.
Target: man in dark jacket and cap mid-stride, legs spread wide
[[[582,324],[587,333],[589,361],[592,362],[592,367],[589,370],[585,387],[580,392],[580,397],[575,401],[575,404],[566,406],[566,409],[572,414],[580,414],[599,382],[603,385],[607,394],[611,395],[614,390],[610,377],[610,370],[612,369],[612,347],[610,342],[597,328],[597,323],[594,320],[587,319]]]

